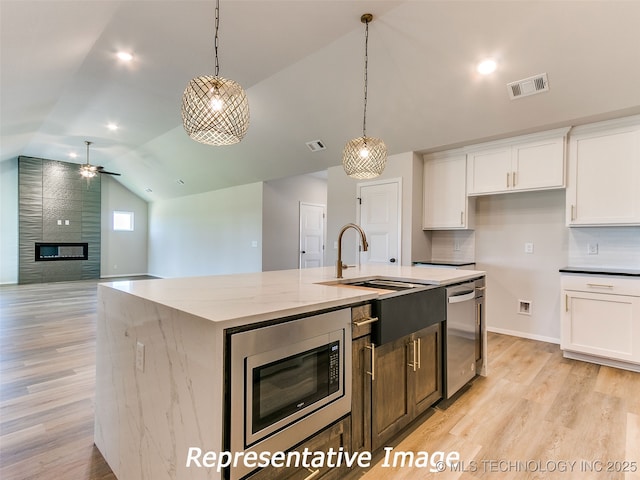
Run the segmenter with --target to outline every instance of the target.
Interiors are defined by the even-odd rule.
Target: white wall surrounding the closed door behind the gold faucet
[[[413,152],[392,155],[387,158],[387,166],[379,177],[372,181],[392,178],[402,179],[402,249],[403,265],[411,265],[412,260],[423,260],[430,256],[430,242],[422,231],[422,159]],[[356,221],[357,185],[366,180],[355,180],[344,173],[342,166],[328,170],[327,205],[327,254],[326,265],[333,265],[337,259],[334,242],[340,228],[346,223]],[[357,236],[345,235],[343,238],[343,261],[356,263],[355,252]]]

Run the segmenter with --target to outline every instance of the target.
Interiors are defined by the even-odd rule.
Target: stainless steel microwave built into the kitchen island
[[[232,452],[286,451],[349,413],[350,309],[235,333],[230,347]]]

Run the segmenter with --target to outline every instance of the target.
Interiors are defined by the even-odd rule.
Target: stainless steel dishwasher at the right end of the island
[[[476,331],[475,282],[447,287],[446,399],[476,375]]]

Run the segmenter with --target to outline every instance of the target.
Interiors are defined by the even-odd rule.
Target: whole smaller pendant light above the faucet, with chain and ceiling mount
[[[354,138],[347,142],[342,154],[342,167],[352,178],[374,178],[382,173],[387,163],[387,146],[382,140],[367,137],[367,67],[369,22],[373,15],[365,13],[360,21],[365,24],[364,40],[364,116],[362,120],[362,137]]]

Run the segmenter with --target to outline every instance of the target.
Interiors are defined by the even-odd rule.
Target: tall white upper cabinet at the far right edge
[[[567,225],[640,225],[640,115],[576,127]]]

